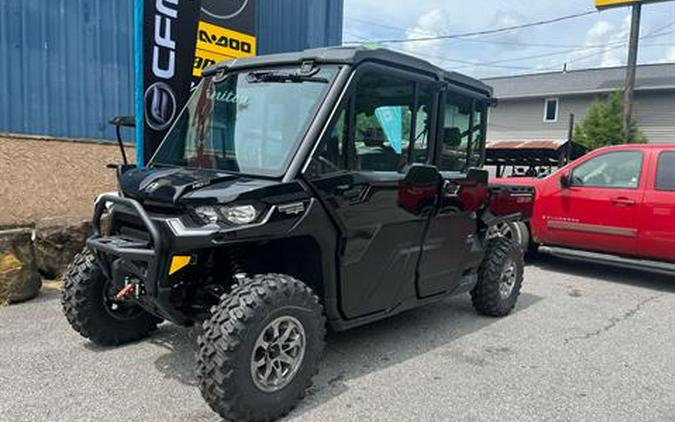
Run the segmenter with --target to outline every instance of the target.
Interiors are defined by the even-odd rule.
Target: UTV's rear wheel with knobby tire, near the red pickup
[[[520,295],[524,267],[520,245],[500,236],[490,239],[478,270],[478,284],[471,291],[474,308],[483,315],[508,315]]]

